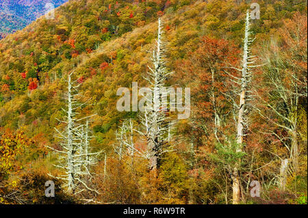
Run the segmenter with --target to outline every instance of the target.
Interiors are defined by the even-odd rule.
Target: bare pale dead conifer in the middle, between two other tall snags
[[[167,87],[165,85],[168,79],[164,53],[165,44],[162,42],[162,22],[158,20],[157,45],[153,51],[152,62],[154,68],[149,66],[149,83],[151,85],[151,103],[146,105],[144,110],[143,126],[146,128],[146,140],[149,148],[149,168],[155,170],[159,167],[159,159],[164,152],[167,152],[168,131],[172,122],[166,117],[167,106]]]

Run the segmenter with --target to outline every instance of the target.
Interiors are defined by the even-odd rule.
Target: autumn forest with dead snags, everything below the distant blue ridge
[[[307,1],[54,15],[0,40],[0,204],[307,204]],[[190,87],[189,117],[118,110],[136,83]]]

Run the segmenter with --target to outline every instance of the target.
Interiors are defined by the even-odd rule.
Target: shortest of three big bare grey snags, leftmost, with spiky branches
[[[60,135],[59,138],[62,140],[61,146],[62,150],[56,150],[55,148],[50,148],[59,154],[59,167],[64,169],[64,174],[56,178],[64,180],[63,187],[66,187],[68,193],[80,193],[86,189],[90,189],[86,182],[83,180],[85,176],[90,176],[88,167],[94,165],[97,161],[97,153],[89,152],[89,136],[88,136],[88,120],[86,126],[80,124],[81,120],[86,118],[77,118],[76,110],[82,107],[84,104],[78,103],[77,97],[80,96],[77,88],[79,85],[74,85],[75,82],[71,81],[71,75],[68,74],[67,80],[67,93],[66,93],[66,109],[62,109],[66,113],[66,120],[60,121],[66,124],[66,129],[60,132],[55,128],[55,131]],[[87,117],[89,118],[89,117]]]

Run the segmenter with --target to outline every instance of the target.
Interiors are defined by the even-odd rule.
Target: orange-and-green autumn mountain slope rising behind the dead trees
[[[101,116],[96,121],[98,133],[104,135],[112,126],[116,127],[123,115],[115,109],[109,110],[116,103],[115,92],[120,86],[130,87],[132,79],[144,83],[142,77],[155,38],[156,12],[162,7],[153,2],[152,7],[149,3],[118,1],[117,5],[112,2],[72,1],[57,9],[54,21],[40,18],[23,31],[0,41],[1,126],[30,128],[32,122],[39,119],[39,125],[52,127],[55,121],[50,116],[55,116],[61,107],[58,101],[64,89],[62,81],[67,72],[75,69],[76,77],[84,78],[82,89],[93,96],[97,105],[89,110]],[[194,51],[200,37],[206,34],[241,43],[245,4],[233,1],[186,4],[179,1],[169,5],[170,8],[165,7],[166,15],[162,17],[168,26],[165,31],[171,69],[175,68],[177,59]],[[272,8],[272,5],[266,7]],[[77,13],[76,8],[79,8]],[[285,14],[285,10],[279,9],[277,16],[269,17],[272,10],[268,10],[260,21],[253,23],[257,38],[268,38],[271,28],[281,27],[279,14]],[[149,10],[156,12],[144,15]],[[118,16],[118,12],[122,15]],[[289,13],[292,16],[293,12]],[[107,68],[101,66],[103,63],[107,63]],[[34,79],[38,81],[38,90],[24,94],[29,92],[28,85]],[[41,109],[34,111],[31,105]],[[45,122],[49,124],[45,126]],[[107,126],[105,130],[103,126]],[[40,128],[36,131],[39,133]],[[52,138],[52,131],[47,132]]]

